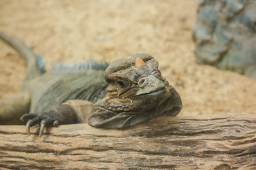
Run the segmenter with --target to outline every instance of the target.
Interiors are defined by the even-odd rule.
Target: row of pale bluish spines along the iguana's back
[[[97,62],[95,60],[88,60],[84,62],[79,62],[79,63],[68,63],[64,64],[63,62],[60,62],[58,64],[55,64],[52,66],[51,70],[90,70],[90,69],[95,69],[95,70],[105,70],[109,66],[108,62]]]

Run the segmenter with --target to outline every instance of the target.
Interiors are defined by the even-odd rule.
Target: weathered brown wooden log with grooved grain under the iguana
[[[124,130],[0,126],[0,168],[256,169],[256,115],[158,117]]]

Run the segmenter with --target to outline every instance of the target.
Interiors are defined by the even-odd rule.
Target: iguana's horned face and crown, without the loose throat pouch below
[[[157,60],[146,54],[116,60],[106,69],[105,80],[109,87],[104,101],[112,111],[149,110],[170,96]]]

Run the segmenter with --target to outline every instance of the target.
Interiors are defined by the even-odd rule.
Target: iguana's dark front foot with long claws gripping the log
[[[40,124],[39,138],[41,138],[44,133],[45,127],[58,127],[58,125],[60,125],[60,121],[49,115],[49,113],[26,113],[20,120],[28,120],[26,124],[26,132],[28,136],[30,135],[30,127]]]

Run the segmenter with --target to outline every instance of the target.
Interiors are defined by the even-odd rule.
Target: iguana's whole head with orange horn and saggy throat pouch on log
[[[177,115],[179,94],[163,78],[158,62],[145,53],[115,60],[104,74],[106,97],[95,103],[88,123],[96,127],[123,128],[162,115]]]

